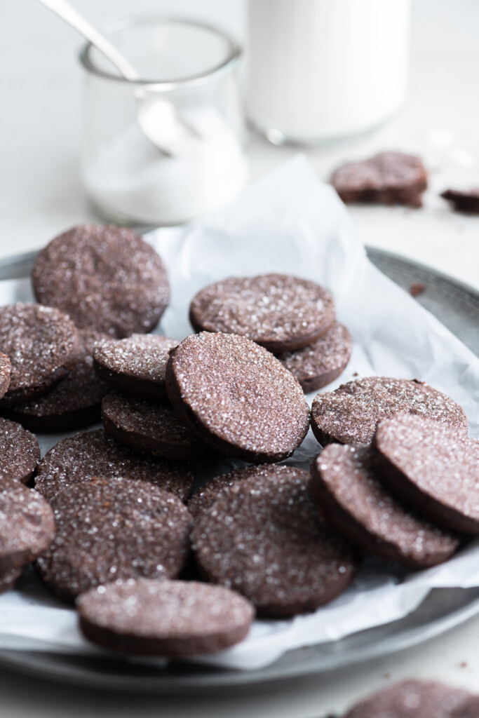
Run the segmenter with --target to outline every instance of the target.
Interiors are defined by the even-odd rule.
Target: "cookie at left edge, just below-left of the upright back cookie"
[[[66,314],[40,304],[0,307],[0,347],[11,363],[10,385],[1,406],[14,406],[47,392],[68,374],[78,343]]]

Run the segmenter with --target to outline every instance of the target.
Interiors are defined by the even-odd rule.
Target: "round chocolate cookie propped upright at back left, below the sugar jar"
[[[161,258],[115,225],[79,225],[55,237],[39,252],[32,281],[38,302],[113,337],[151,331],[169,301]]]

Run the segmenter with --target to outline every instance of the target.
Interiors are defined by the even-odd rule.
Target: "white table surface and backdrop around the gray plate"
[[[152,9],[213,19],[240,35],[241,0],[75,0],[97,24]],[[410,149],[427,160],[431,188],[422,210],[351,208],[365,243],[411,256],[479,287],[479,218],[452,213],[437,192],[479,186],[479,3],[413,0],[411,87],[404,111],[375,134],[307,151],[325,179],[345,159]],[[81,72],[78,38],[33,0],[0,6],[0,258],[39,248],[60,230],[96,219],[78,172]],[[254,134],[251,177],[297,151]],[[479,618],[442,638],[325,679],[281,684],[234,697],[162,699],[43,684],[0,671],[0,717],[35,714],[201,718],[320,718],[406,676],[479,689]]]

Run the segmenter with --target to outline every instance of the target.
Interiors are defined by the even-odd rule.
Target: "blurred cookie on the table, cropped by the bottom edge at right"
[[[359,701],[345,718],[466,718],[474,700],[467,691],[434,681],[403,681]]]

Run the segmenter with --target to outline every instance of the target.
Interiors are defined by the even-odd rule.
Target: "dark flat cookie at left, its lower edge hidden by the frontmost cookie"
[[[175,578],[185,564],[190,512],[157,486],[93,478],[51,503],[57,533],[37,568],[63,600],[116,579]]]

